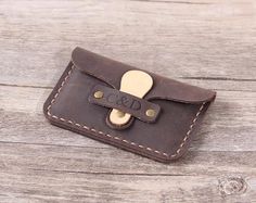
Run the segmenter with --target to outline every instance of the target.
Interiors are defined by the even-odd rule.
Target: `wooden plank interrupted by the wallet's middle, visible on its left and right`
[[[0,140],[108,148],[51,126],[42,115],[42,103],[49,93],[50,89],[0,86]],[[219,91],[194,137],[192,150],[256,151],[255,106],[256,92]]]

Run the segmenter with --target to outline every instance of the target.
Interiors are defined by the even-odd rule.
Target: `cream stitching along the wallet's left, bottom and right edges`
[[[59,119],[61,122],[64,122],[64,123],[67,123],[69,125],[73,125],[73,126],[76,126],[76,127],[79,127],[79,128],[82,128],[82,129],[86,129],[88,131],[92,131],[92,132],[95,132],[95,134],[99,134],[99,135],[102,135],[102,136],[105,136],[107,138],[111,138],[111,139],[115,139],[115,140],[119,140],[119,141],[123,141],[125,142],[126,144],[130,144],[130,145],[136,145],[138,147],[139,149],[143,149],[143,150],[146,150],[146,151],[150,151],[150,152],[153,152],[153,153],[156,153],[156,154],[161,154],[161,155],[164,155],[166,157],[176,157],[179,155],[179,153],[181,152],[182,148],[184,147],[185,142],[188,141],[195,124],[196,124],[196,120],[199,119],[199,116],[200,114],[202,113],[203,109],[204,109],[204,105],[205,105],[205,102],[201,105],[200,110],[197,111],[197,113],[195,114],[195,117],[194,119],[192,120],[192,124],[190,125],[190,128],[189,130],[187,131],[185,134],[185,137],[183,138],[182,142],[180,143],[178,150],[174,153],[174,154],[167,154],[165,152],[161,152],[158,150],[154,150],[152,148],[149,148],[149,147],[145,147],[145,145],[142,145],[142,144],[139,144],[139,143],[135,143],[135,142],[131,142],[131,141],[128,141],[126,139],[121,139],[119,137],[116,137],[116,136],[112,136],[110,134],[105,134],[103,131],[100,131],[100,130],[97,130],[94,128],[90,128],[86,125],[82,125],[82,124],[78,124],[76,122],[73,122],[71,119],[65,119],[63,117],[60,117],[60,116],[56,116],[56,115],[53,115],[51,114],[51,107],[52,107],[52,104],[55,102],[56,98],[60,96],[60,92],[61,90],[63,89],[64,85],[66,84],[67,79],[69,78],[73,69],[74,69],[74,65],[72,66],[72,68],[68,71],[67,75],[65,76],[65,78],[63,79],[63,81],[61,83],[61,87],[57,89],[56,93],[53,96],[53,99],[51,100],[50,102],[50,105],[47,107],[47,115],[54,118],[54,119]]]

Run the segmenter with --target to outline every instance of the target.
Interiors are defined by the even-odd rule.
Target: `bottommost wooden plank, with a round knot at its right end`
[[[255,189],[252,186],[256,181],[255,177],[247,177],[238,189],[231,187],[231,191],[234,190],[233,193],[231,192],[233,195],[221,194],[220,182],[226,185],[226,180],[222,179],[213,176],[113,176],[22,169],[1,170],[0,201],[253,202]],[[227,182],[226,187],[229,187],[229,183]]]

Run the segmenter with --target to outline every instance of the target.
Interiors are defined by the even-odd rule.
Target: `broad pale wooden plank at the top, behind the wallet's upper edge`
[[[53,86],[76,46],[169,77],[255,81],[253,0],[33,2],[1,1],[0,84]]]

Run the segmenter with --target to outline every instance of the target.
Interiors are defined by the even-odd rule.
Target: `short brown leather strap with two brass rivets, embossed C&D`
[[[92,88],[89,102],[110,109],[117,109],[120,111],[119,116],[128,113],[146,123],[155,122],[161,111],[158,104],[101,85]]]

